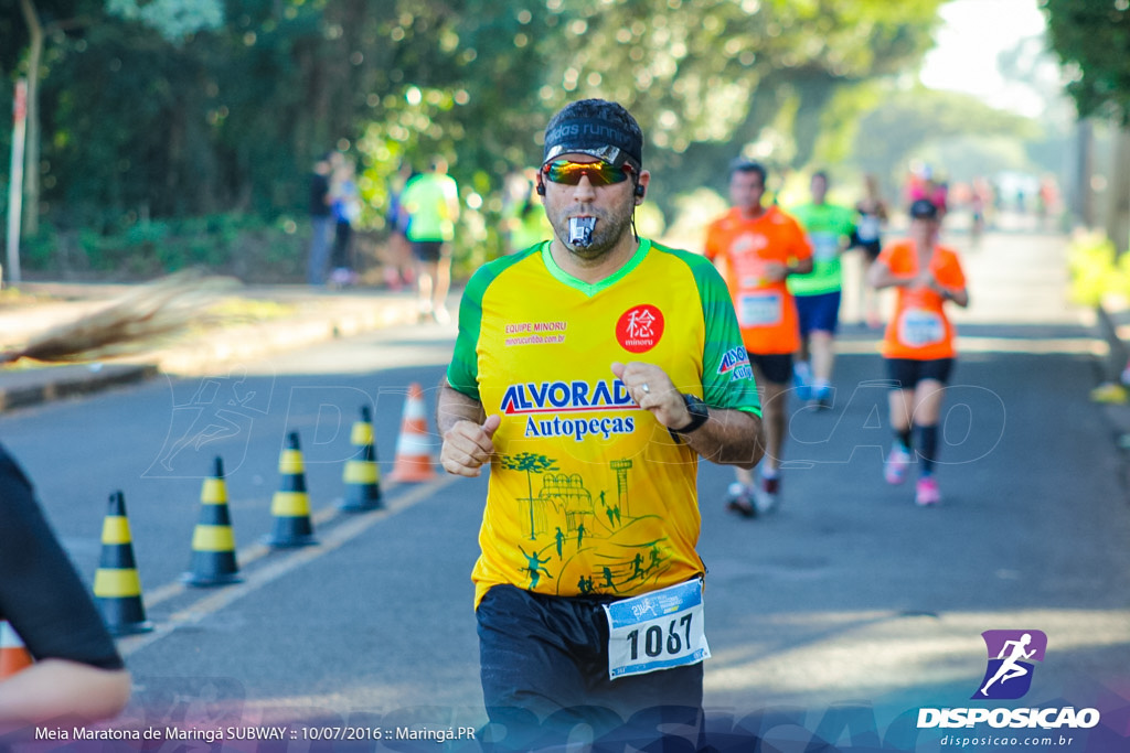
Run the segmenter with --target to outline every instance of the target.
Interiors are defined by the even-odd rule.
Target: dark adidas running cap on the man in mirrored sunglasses
[[[581,99],[563,107],[546,126],[545,165],[562,155],[589,155],[617,167],[643,167],[643,132],[621,105]]]

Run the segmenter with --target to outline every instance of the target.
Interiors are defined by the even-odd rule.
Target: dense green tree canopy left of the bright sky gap
[[[104,230],[299,213],[329,149],[359,158],[374,222],[433,154],[489,209],[586,96],[641,121],[663,205],[766,139],[805,164],[836,93],[916,65],[942,1],[19,0],[45,35],[40,211]],[[5,3],[0,76],[27,73],[31,42]]]

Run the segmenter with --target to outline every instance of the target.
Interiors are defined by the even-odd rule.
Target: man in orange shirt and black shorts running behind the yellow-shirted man
[[[729,212],[706,230],[706,257],[718,266],[733,297],[741,340],[762,394],[766,453],[760,479],[736,469],[728,509],[746,517],[776,506],[781,493],[785,389],[792,353],[800,347],[797,306],[785,286],[790,274],[812,269],[812,248],[803,229],[776,205],[762,205],[766,170],[739,157],[730,165]]]

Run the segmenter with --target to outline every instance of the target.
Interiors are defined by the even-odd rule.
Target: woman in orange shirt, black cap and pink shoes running
[[[906,240],[884,248],[868,272],[877,289],[897,288],[895,314],[887,324],[883,357],[894,383],[890,426],[895,443],[884,466],[888,483],[902,483],[911,463],[915,435],[922,461],[914,501],[941,501],[933,466],[938,458],[938,417],[945,386],[954,367],[954,325],[945,304],[970,305],[965,273],[957,253],[939,246],[938,208],[927,199],[911,204],[911,233]],[[913,422],[912,422],[913,418]]]

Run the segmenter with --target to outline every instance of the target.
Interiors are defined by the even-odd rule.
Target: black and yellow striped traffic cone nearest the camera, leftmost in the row
[[[94,573],[94,603],[113,636],[153,630],[145,619],[141,578],[133,560],[133,539],[125,517],[125,498],[115,491],[102,524],[102,559]]]

